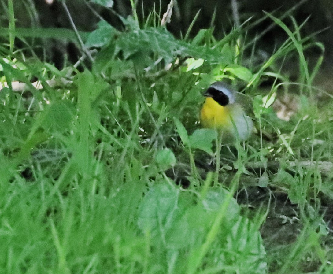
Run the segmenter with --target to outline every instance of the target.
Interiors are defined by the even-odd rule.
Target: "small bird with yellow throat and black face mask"
[[[236,103],[236,92],[222,82],[213,83],[203,94],[206,100],[200,111],[200,123],[204,128],[218,130],[223,136],[247,139],[253,122]]]

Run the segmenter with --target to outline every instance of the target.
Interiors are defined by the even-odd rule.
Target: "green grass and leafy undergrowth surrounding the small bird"
[[[59,71],[28,58],[33,48],[15,52],[14,40],[42,32],[19,32],[8,3],[0,273],[332,272],[333,104],[312,87],[322,55],[310,68],[306,53],[323,47],[301,37],[303,24],[266,13],[289,38],[245,67],[243,34],[256,23],[219,41],[211,29],[177,40],[156,12],[139,22],[131,1],[126,32],[100,22],[83,38],[93,62]],[[294,83],[283,74],[293,58]],[[203,90],[219,80],[246,94],[256,133],[215,153],[217,135],[197,121]],[[300,106],[288,122],[269,101],[282,89]]]

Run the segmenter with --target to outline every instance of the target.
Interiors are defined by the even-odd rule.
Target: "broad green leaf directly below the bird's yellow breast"
[[[189,137],[191,148],[201,149],[212,155],[212,141],[217,138],[217,132],[213,129],[195,130]]]

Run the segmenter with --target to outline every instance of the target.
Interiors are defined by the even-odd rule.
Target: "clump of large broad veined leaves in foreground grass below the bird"
[[[189,273],[185,270],[187,254],[205,242],[228,192],[216,187],[202,194],[201,198],[196,198],[190,192],[158,184],[149,190],[139,207],[138,225],[158,249],[160,254],[155,256],[155,263],[165,269],[164,272],[168,269],[169,273]],[[230,200],[227,211],[228,216],[224,217],[211,243],[211,251],[203,259],[204,269],[266,273],[265,250],[259,232],[248,219],[239,215],[234,199]],[[192,263],[188,261],[187,267],[191,268]]]

